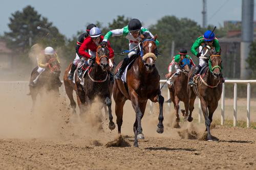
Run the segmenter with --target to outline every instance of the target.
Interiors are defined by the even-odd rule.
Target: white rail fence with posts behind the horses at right
[[[160,87],[162,87],[163,83],[166,80],[160,80]],[[247,84],[247,118],[246,118],[246,126],[250,127],[250,84],[255,84],[256,80],[226,80],[225,83],[222,84],[222,94],[221,94],[221,125],[224,125],[225,122],[225,84],[234,84],[234,101],[233,101],[233,126],[237,126],[237,84]],[[170,98],[170,94],[168,91],[168,99]],[[168,105],[170,106],[170,105]],[[199,100],[199,113],[198,113],[198,122],[201,122],[201,105]]]

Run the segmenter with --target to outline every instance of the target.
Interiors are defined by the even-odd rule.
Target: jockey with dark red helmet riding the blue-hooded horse
[[[193,62],[192,58],[189,55],[187,55],[187,50],[185,48],[181,48],[179,54],[174,56],[172,62],[168,65],[169,73],[165,75],[166,79],[170,78],[170,76],[172,75],[172,66],[174,63],[175,63],[175,69],[176,69],[174,76],[177,77],[180,75],[180,72],[182,71],[181,61],[184,58],[189,59],[191,65],[195,66],[195,63]]]

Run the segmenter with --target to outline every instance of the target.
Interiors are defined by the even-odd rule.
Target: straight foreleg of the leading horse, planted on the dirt
[[[135,122],[137,122],[137,128],[135,128],[136,125],[134,126],[134,147],[139,147],[137,136],[138,135],[139,136],[143,135],[142,134],[142,127],[141,127],[141,118],[142,118],[143,114],[140,110],[138,94],[134,90],[131,91],[131,101],[132,101],[132,105],[133,105],[133,108],[134,108],[135,113],[136,113]]]

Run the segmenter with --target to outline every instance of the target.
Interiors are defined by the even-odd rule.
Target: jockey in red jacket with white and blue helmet
[[[86,70],[87,66],[90,66],[92,63],[95,62],[96,60],[96,51],[97,47],[99,46],[100,42],[103,40],[103,36],[101,35],[101,31],[97,27],[93,27],[90,31],[90,36],[87,37],[83,43],[81,44],[78,53],[81,57],[88,59],[86,63],[83,64],[81,71],[78,72],[78,76],[81,78],[83,71]],[[113,67],[113,60],[114,60],[114,51],[112,47],[110,46],[110,43],[108,42],[108,48],[110,51],[110,56],[109,56],[109,62],[110,62],[110,67]],[[88,52],[86,51],[87,49]],[[113,80],[113,75],[108,71],[110,74],[110,80]]]

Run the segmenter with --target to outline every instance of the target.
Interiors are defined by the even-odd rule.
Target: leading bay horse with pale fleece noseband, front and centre
[[[127,70],[126,82],[116,80],[114,82],[113,96],[116,103],[115,112],[117,116],[118,133],[121,133],[123,106],[126,100],[131,100],[133,108],[136,112],[136,120],[133,126],[135,140],[134,146],[138,147],[137,139],[144,139],[141,127],[141,119],[144,115],[147,100],[159,102],[159,124],[157,132],[163,133],[163,102],[159,81],[160,76],[155,67],[157,46],[155,40],[151,36],[141,35],[142,43],[139,44],[141,57],[137,57],[131,68]],[[143,55],[144,54],[144,55]],[[116,67],[115,72],[121,66],[121,62]]]

